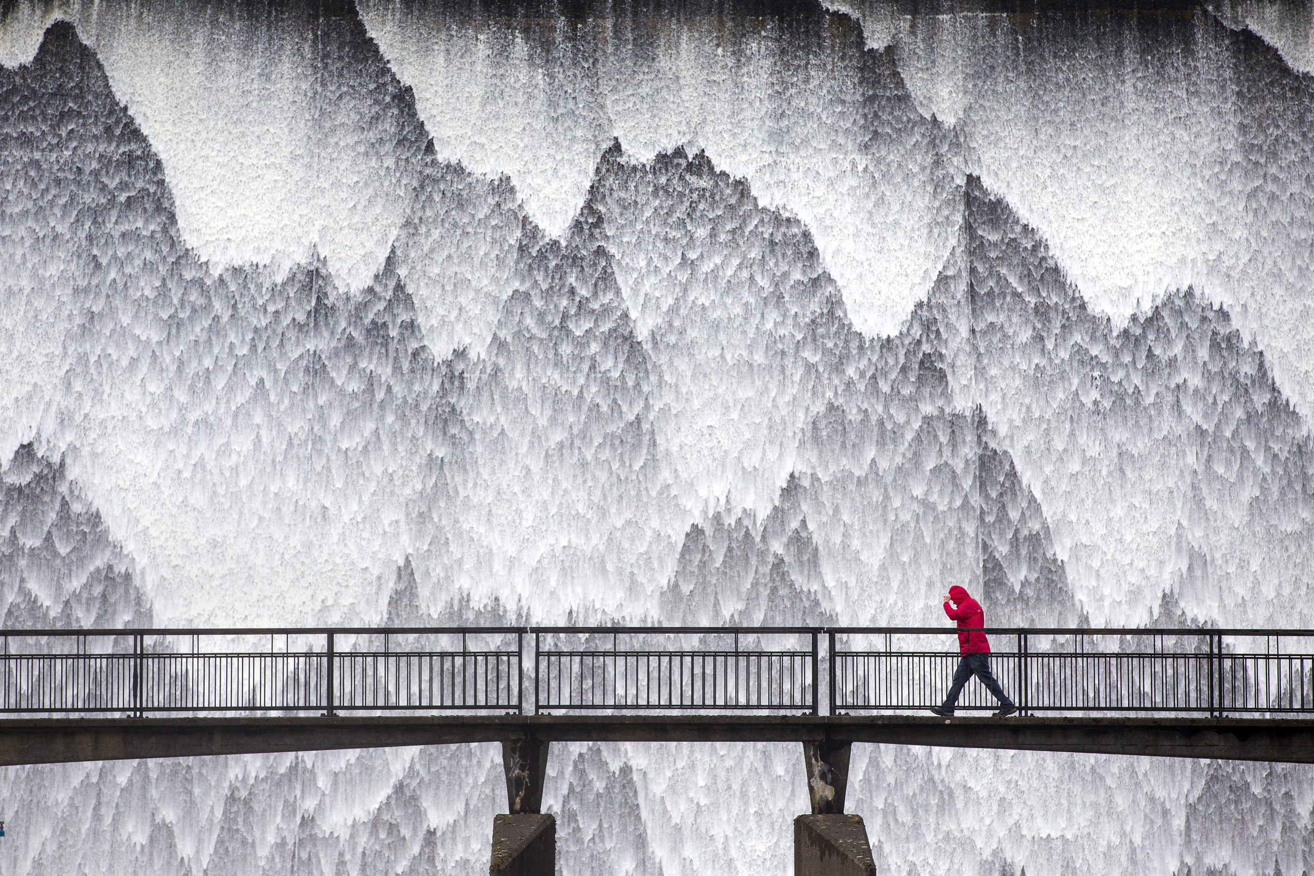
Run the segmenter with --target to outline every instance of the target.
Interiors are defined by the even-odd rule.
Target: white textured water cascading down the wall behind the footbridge
[[[0,3],[7,626],[1314,625],[1314,17]],[[1306,767],[862,747],[882,873],[1314,871]],[[495,746],[0,771],[0,872],[478,873]],[[558,746],[566,875],[796,746]]]

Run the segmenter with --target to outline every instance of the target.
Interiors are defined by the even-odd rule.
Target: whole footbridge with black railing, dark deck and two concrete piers
[[[1314,763],[1314,630],[465,626],[0,630],[0,766],[501,742],[490,872],[555,872],[552,742],[802,742],[796,873],[867,873],[854,742]]]

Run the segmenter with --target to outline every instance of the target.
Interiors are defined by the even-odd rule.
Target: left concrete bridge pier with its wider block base
[[[543,814],[548,743],[533,735],[502,741],[510,812],[493,817],[491,876],[556,876],[557,820]]]

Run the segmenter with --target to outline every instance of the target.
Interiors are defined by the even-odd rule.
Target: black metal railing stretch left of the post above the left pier
[[[0,634],[0,712],[141,717],[523,705],[523,630],[515,626]]]

